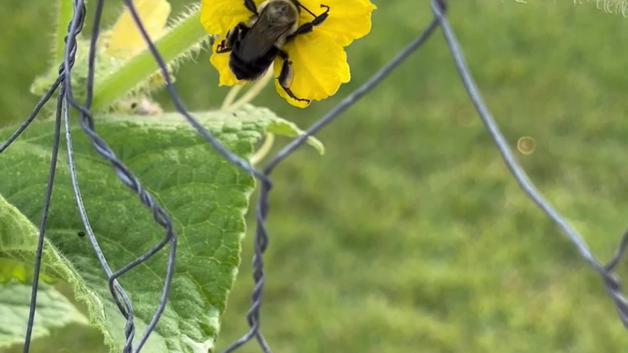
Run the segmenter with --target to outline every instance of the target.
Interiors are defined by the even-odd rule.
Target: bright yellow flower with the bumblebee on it
[[[288,41],[283,50],[288,53],[293,67],[290,90],[296,97],[307,100],[322,100],[335,94],[340,84],[349,82],[350,72],[344,47],[354,39],[371,31],[371,12],[376,6],[369,0],[300,0],[305,8],[315,14],[325,11],[322,4],[329,6],[328,17],[313,31],[297,35]],[[321,3],[322,2],[322,3]],[[264,3],[264,0],[254,0]],[[202,0],[200,22],[211,35],[219,35],[212,50],[210,62],[218,70],[219,85],[241,85],[229,69],[229,52],[216,53],[216,48],[225,39],[227,32],[237,23],[246,23],[251,12],[244,7],[243,0]],[[301,9],[299,24],[311,22],[313,16]],[[276,57],[273,64],[275,88],[281,97],[296,107],[306,107],[307,102],[292,99],[279,85],[283,59]]]

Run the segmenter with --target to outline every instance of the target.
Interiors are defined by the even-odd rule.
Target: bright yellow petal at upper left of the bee
[[[254,0],[256,5],[264,0]],[[242,0],[202,0],[200,23],[207,33],[226,35],[239,22],[245,22],[252,13],[244,7]]]

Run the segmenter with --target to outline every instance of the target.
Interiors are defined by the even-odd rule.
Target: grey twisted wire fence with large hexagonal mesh
[[[168,70],[166,69],[165,62],[156,47],[154,46],[153,41],[150,40],[148,33],[144,29],[144,26],[139,19],[138,12],[134,8],[133,2],[131,0],[122,1],[129,9],[134,23],[136,24],[136,26],[138,26],[141,35],[143,36],[146,43],[148,43],[148,48],[152,53],[154,60],[156,61],[156,63],[158,63],[158,66],[160,67],[161,73],[166,82],[166,90],[168,91],[168,94],[170,94],[171,100],[175,105],[176,110],[180,112],[181,116],[183,116],[183,118],[186,119],[187,122],[196,129],[198,134],[200,134],[205,139],[205,141],[207,141],[207,143],[212,146],[212,148],[220,153],[220,155],[224,156],[225,160],[238,166],[239,168],[242,168],[243,170],[247,171],[247,173],[251,173],[251,175],[259,180],[261,185],[261,190],[257,198],[257,203],[255,207],[256,231],[253,238],[254,256],[252,261],[254,288],[251,295],[251,307],[246,315],[246,319],[250,329],[248,332],[246,332],[246,334],[242,335],[240,339],[224,349],[224,353],[233,352],[238,347],[241,347],[241,345],[245,344],[249,340],[252,340],[253,338],[257,340],[257,343],[264,352],[271,352],[271,349],[266,343],[266,340],[264,340],[263,334],[261,332],[260,311],[264,286],[263,254],[264,251],[266,251],[266,247],[268,247],[268,232],[266,231],[265,220],[266,217],[268,217],[269,212],[268,195],[273,186],[270,178],[272,171],[274,170],[274,168],[276,168],[276,166],[279,165],[279,163],[288,158],[288,156],[290,156],[296,149],[300,148],[300,146],[305,143],[308,137],[318,133],[320,129],[327,126],[327,124],[340,116],[342,112],[344,112],[346,109],[349,109],[349,107],[354,105],[362,97],[364,97],[365,94],[367,94],[374,87],[376,87],[379,82],[385,79],[387,75],[392,70],[394,70],[394,68],[396,68],[401,62],[408,58],[408,56],[415,52],[418,48],[420,48],[421,45],[423,45],[423,43],[425,43],[426,40],[428,40],[428,38],[433,35],[436,28],[440,28],[440,30],[442,31],[444,39],[447,42],[447,46],[455,63],[455,67],[460,76],[460,80],[467,90],[467,94],[472,100],[475,109],[477,110],[480,119],[484,123],[487,132],[490,134],[490,137],[495,142],[495,146],[497,147],[497,149],[499,149],[504,163],[511,171],[512,176],[515,178],[523,192],[534,202],[534,204],[536,204],[539,209],[541,209],[544,214],[546,214],[546,216],[549,217],[549,219],[551,219],[560,228],[563,234],[565,234],[568,240],[573,244],[573,246],[575,246],[578,253],[580,254],[580,256],[582,256],[586,263],[600,275],[600,277],[602,278],[602,283],[605,286],[608,295],[610,296],[612,301],[614,301],[614,305],[620,320],[622,321],[622,323],[624,323],[624,326],[628,328],[628,302],[625,300],[624,296],[621,293],[619,280],[617,280],[617,278],[615,278],[612,274],[613,269],[615,268],[617,263],[619,263],[620,258],[628,245],[628,231],[622,236],[619,242],[619,246],[617,247],[617,252],[615,253],[615,256],[609,261],[609,263],[605,265],[600,264],[597,259],[595,259],[587,244],[582,240],[582,237],[578,234],[578,232],[575,231],[575,229],[572,229],[570,225],[567,224],[565,218],[561,214],[559,214],[549,204],[547,200],[545,200],[543,195],[541,195],[538,190],[536,190],[533,183],[529,181],[521,166],[518,165],[517,161],[512,155],[509,147],[507,146],[506,140],[504,139],[504,136],[497,127],[497,124],[495,124],[494,119],[490,115],[489,110],[485,106],[482,97],[477,90],[472,75],[468,70],[467,64],[465,63],[465,60],[463,58],[462,50],[460,50],[460,45],[458,45],[456,36],[447,20],[447,17],[445,16],[447,5],[444,0],[430,1],[431,10],[433,12],[433,19],[431,19],[431,22],[420,35],[418,35],[405,48],[403,48],[403,50],[401,50],[396,55],[396,57],[393,58],[393,60],[384,65],[384,67],[382,67],[379,71],[374,73],[374,75],[372,75],[372,77],[364,82],[364,84],[362,84],[358,89],[347,95],[347,97],[339,102],[337,106],[333,107],[330,111],[327,112],[327,114],[325,114],[318,121],[316,121],[309,129],[306,130],[305,134],[301,134],[297,138],[293,139],[290,143],[288,143],[283,149],[281,149],[276,155],[274,155],[273,158],[271,158],[271,160],[262,170],[254,169],[249,164],[249,162],[242,160],[241,158],[227,150],[224,146],[222,146],[222,144],[219,143],[219,141],[217,141],[217,139],[215,139],[210,133],[208,133],[207,129],[203,128],[203,126],[193,116],[190,115],[190,113],[183,105],[183,102],[181,102],[181,99],[178,97],[172,85],[171,77],[168,73]],[[168,213],[153,200],[153,197],[151,197],[151,195],[142,187],[141,181],[138,180],[138,178],[136,178],[133,173],[131,173],[131,171],[116,157],[116,155],[114,155],[109,146],[107,146],[106,141],[100,138],[100,136],[96,133],[94,119],[92,117],[92,114],[90,113],[90,106],[92,104],[94,90],[95,49],[97,40],[99,38],[100,19],[102,18],[104,0],[97,0],[94,3],[94,21],[91,32],[88,58],[89,69],[87,73],[87,80],[85,83],[85,92],[87,92],[85,102],[82,104],[80,102],[77,102],[72,94],[70,73],[72,72],[75,55],[77,53],[76,36],[78,35],[78,33],[80,33],[80,31],[82,31],[86,16],[84,0],[72,0],[72,4],[73,16],[72,20],[68,24],[67,35],[65,36],[65,54],[63,56],[63,62],[58,68],[57,80],[55,80],[54,84],[51,85],[50,89],[48,90],[48,92],[46,92],[40,102],[36,104],[30,116],[26,118],[23,124],[21,124],[21,126],[16,129],[16,131],[9,137],[7,141],[0,145],[0,153],[2,153],[6,148],[9,147],[11,143],[13,143],[13,141],[15,141],[16,138],[18,138],[19,134],[21,134],[24,129],[28,128],[28,125],[35,119],[41,107],[43,107],[44,104],[46,104],[46,102],[50,100],[56,90],[59,90],[60,93],[57,99],[55,131],[53,136],[50,171],[48,173],[48,182],[43,199],[42,217],[39,227],[40,231],[38,234],[35,260],[33,263],[34,269],[30,301],[30,313],[28,317],[26,335],[24,337],[23,351],[24,353],[28,352],[31,342],[31,333],[33,331],[35,305],[38,293],[38,278],[40,274],[41,257],[46,231],[46,220],[48,218],[48,208],[50,205],[50,198],[53,190],[53,182],[55,178],[59,141],[61,135],[61,126],[63,122],[63,125],[65,126],[65,137],[67,141],[67,153],[69,162],[68,165],[70,167],[70,176],[72,179],[73,193],[75,201],[77,203],[77,208],[80,212],[86,235],[89,238],[92,247],[94,248],[94,254],[99,259],[100,265],[107,275],[109,281],[109,290],[111,291],[112,299],[116,303],[119,312],[126,320],[126,325],[124,326],[124,337],[126,337],[126,342],[124,344],[122,352],[136,353],[139,352],[142,349],[143,345],[146,343],[148,336],[153,331],[155,325],[160,319],[161,313],[165,309],[168,292],[170,290],[170,284],[173,276],[173,268],[175,266],[177,238],[175,232],[173,231],[173,225],[170,219],[170,215],[168,215]],[[111,163],[112,168],[114,169],[114,171],[116,171],[116,174],[121,182],[138,195],[141,203],[151,210],[154,221],[164,230],[163,239],[158,244],[155,244],[152,249],[134,259],[126,266],[115,271],[110,268],[109,264],[107,264],[106,257],[100,250],[98,241],[94,236],[92,228],[90,227],[89,217],[87,216],[87,212],[85,212],[85,208],[82,202],[72,151],[72,136],[70,135],[69,117],[70,107],[80,113],[78,118],[80,126],[83,129],[84,133],[90,139],[95,151],[97,151],[97,153],[99,153],[102,158],[105,158],[107,161],[109,161],[109,163]],[[141,338],[138,340],[138,343],[136,345],[133,345],[133,340],[136,335],[133,306],[131,305],[131,301],[129,300],[128,296],[124,292],[124,288],[119,285],[117,278],[122,276],[127,271],[130,271],[138,264],[143,263],[143,261],[146,261],[158,251],[165,249],[166,246],[168,251],[168,260],[166,264],[166,276],[161,290],[160,301],[158,306],[154,310],[153,317],[148,323],[143,334],[141,334]]]

